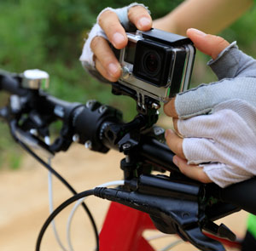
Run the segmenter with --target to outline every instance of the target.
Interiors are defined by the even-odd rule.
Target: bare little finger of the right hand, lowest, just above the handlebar
[[[202,183],[211,183],[212,180],[204,172],[203,168],[197,165],[189,165],[183,158],[174,156],[173,163],[180,169],[180,171],[193,180],[199,180]]]

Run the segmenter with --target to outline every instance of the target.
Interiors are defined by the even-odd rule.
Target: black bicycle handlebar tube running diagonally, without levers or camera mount
[[[20,87],[19,78],[8,75],[0,75],[0,89],[23,97],[30,95],[30,89]],[[120,126],[124,124],[120,111],[110,106],[102,106],[94,100],[90,100],[84,106],[79,103],[59,100],[40,91],[37,94],[37,98],[38,104],[36,106],[38,107],[34,106],[35,103],[33,102],[31,104],[32,108],[38,109],[38,112],[41,112],[43,117],[45,114],[49,114],[51,119],[49,119],[48,123],[54,119],[61,119],[67,124],[72,124],[73,130],[70,135],[79,134],[80,144],[91,140],[90,150],[103,152],[108,151],[108,148],[117,150],[117,143],[106,137],[104,129],[106,129],[106,125],[108,127],[110,124]],[[53,117],[55,118],[53,119]],[[142,143],[138,146],[137,150],[140,157],[143,157],[148,163],[154,163],[155,166],[159,166],[167,171],[178,172],[178,168],[172,163],[174,155],[172,151],[170,151],[167,145],[160,143],[153,137],[143,135]],[[221,201],[235,203],[241,208],[256,214],[256,202],[254,200],[247,202],[246,199],[248,195],[252,194],[253,187],[256,187],[256,179],[253,178],[236,185],[230,185],[230,187],[225,189],[215,185],[212,185],[212,187],[214,187],[214,189],[211,188],[212,194]],[[237,196],[237,194],[241,196]]]

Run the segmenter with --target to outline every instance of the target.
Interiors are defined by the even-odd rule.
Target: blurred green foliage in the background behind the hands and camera
[[[182,0],[144,0],[154,19],[174,9]],[[129,0],[8,0],[0,2],[0,68],[6,71],[24,71],[39,68],[50,75],[49,92],[61,99],[85,102],[100,100],[121,107],[125,117],[131,118],[135,104],[125,97],[113,97],[110,87],[98,83],[84,71],[79,55],[84,37],[96,15],[104,8],[123,7]],[[256,9],[247,12],[222,35],[237,40],[248,54],[256,54]],[[206,70],[207,58],[198,54],[193,82],[214,79]],[[3,104],[3,100],[0,104]],[[131,112],[134,111],[134,112]],[[2,135],[6,128],[0,128]],[[1,137],[3,138],[3,136]],[[2,146],[3,145],[3,146]],[[0,147],[8,145],[0,142]],[[0,159],[1,161],[1,159]],[[14,161],[14,165],[19,161]]]

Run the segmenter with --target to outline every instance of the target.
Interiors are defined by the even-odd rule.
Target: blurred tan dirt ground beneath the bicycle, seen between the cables
[[[58,154],[52,164],[77,191],[84,191],[107,181],[119,180],[122,177],[119,170],[121,158],[122,155],[116,151],[102,155],[75,145],[67,153]],[[0,172],[0,251],[34,250],[38,232],[49,215],[47,175],[47,171],[28,156],[24,157],[22,168],[19,170]],[[70,196],[69,191],[54,179],[55,206]],[[88,198],[86,202],[100,228],[108,202],[94,197]],[[66,223],[70,209],[67,208],[56,219],[61,239],[66,245]],[[218,223],[224,222],[242,237],[246,217],[245,212],[239,212]],[[147,235],[155,235],[155,233],[150,231]],[[175,237],[162,238],[159,242],[153,242],[153,245],[159,250],[170,242],[170,238]],[[82,209],[78,210],[73,220],[72,240],[74,250],[94,250],[93,231]],[[195,249],[186,243],[173,248],[183,251]],[[55,242],[51,229],[43,239],[42,250],[61,250]]]

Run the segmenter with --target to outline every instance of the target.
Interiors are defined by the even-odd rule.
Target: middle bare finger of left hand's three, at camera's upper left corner
[[[128,43],[125,29],[119,22],[118,15],[111,10],[104,11],[98,18],[99,25],[115,48],[124,48]]]

